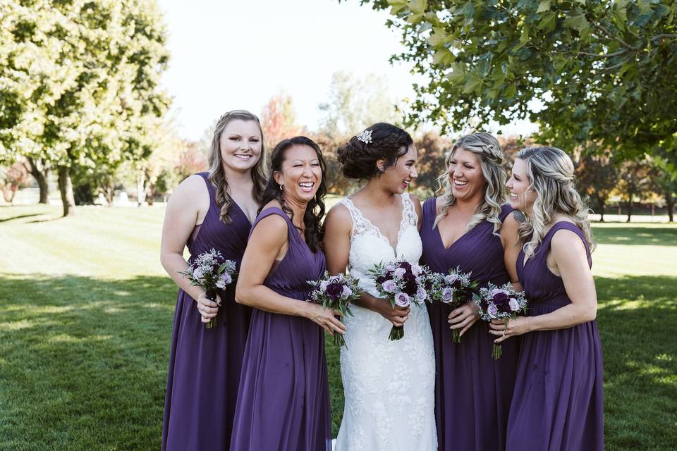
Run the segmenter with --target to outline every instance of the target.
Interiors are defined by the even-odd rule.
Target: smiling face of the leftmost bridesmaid
[[[261,157],[261,130],[254,121],[235,119],[226,124],[219,144],[221,160],[227,170],[250,171]]]

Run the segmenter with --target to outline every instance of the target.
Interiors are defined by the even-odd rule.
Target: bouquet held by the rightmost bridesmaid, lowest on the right
[[[475,303],[480,308],[480,318],[484,321],[502,319],[506,324],[510,319],[515,319],[519,311],[527,308],[524,292],[515,291],[511,283],[502,287],[489,283],[487,288],[480,289],[480,297],[475,299]],[[494,359],[501,358],[501,345],[494,343],[492,356]]]

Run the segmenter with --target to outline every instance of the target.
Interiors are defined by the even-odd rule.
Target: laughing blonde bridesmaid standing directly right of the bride
[[[518,224],[509,215],[511,207],[501,205],[506,199],[502,160],[499,142],[488,133],[466,135],[453,145],[439,178],[444,194],[423,204],[422,261],[432,271],[460,266],[480,286],[517,280],[504,265],[504,249],[514,247]],[[506,343],[501,359],[494,360],[489,325],[475,324],[473,302],[456,309],[429,305],[429,319],[438,449],[504,450],[518,341]],[[461,329],[460,343],[453,342],[450,326]]]

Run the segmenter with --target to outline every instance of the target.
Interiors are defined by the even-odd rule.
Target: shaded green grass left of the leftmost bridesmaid
[[[0,449],[158,449],[176,291],[0,273]]]

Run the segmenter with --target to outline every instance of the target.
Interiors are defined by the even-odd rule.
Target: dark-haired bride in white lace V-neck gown
[[[331,274],[360,280],[368,293],[356,302],[341,347],[346,404],[335,451],[437,450],[434,421],[434,352],[425,307],[392,308],[377,297],[369,269],[374,264],[421,257],[421,204],[405,193],[416,178],[416,148],[410,135],[377,123],[338,149],[348,178],[367,180],[341,199],[324,222],[324,252]],[[404,338],[390,341],[392,326]]]

